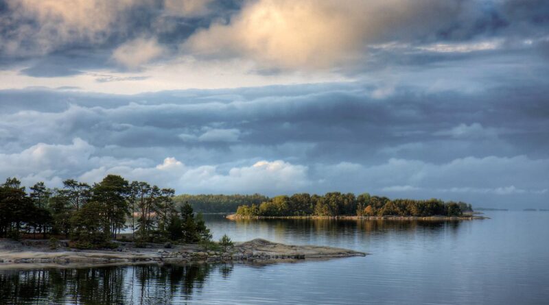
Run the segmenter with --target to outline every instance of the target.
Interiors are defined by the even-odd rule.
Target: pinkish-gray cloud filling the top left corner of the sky
[[[40,55],[75,41],[102,43],[115,25],[125,23],[121,12],[133,0],[8,0],[10,15],[3,25],[12,27],[6,45],[10,55]],[[119,30],[124,31],[124,28]]]

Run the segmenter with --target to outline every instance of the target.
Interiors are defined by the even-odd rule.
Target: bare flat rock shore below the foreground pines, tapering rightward
[[[269,263],[307,259],[365,256],[363,252],[314,245],[284,245],[264,239],[235,243],[226,252],[203,251],[198,245],[117,243],[116,249],[71,249],[60,241],[50,249],[48,241],[0,240],[0,269],[22,265],[130,265],[143,263],[244,262]]]

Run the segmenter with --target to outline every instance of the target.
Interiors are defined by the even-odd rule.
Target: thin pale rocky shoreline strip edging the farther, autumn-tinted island
[[[458,220],[474,220],[474,219],[490,219],[490,217],[478,215],[463,215],[463,216],[243,216],[231,214],[225,217],[229,220],[240,219],[335,219],[335,220],[388,220],[388,221],[410,221],[410,220],[425,220],[425,221],[458,221]]]

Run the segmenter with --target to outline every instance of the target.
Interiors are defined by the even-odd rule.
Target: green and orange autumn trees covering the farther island
[[[388,199],[363,193],[331,192],[325,195],[299,193],[277,196],[261,204],[242,205],[237,215],[242,216],[461,216],[472,211],[471,204],[443,202],[440,199]]]

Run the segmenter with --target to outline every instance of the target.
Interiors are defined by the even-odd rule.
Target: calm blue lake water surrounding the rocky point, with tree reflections
[[[366,257],[274,265],[0,271],[0,304],[549,304],[549,212],[460,222],[206,215],[214,238],[330,245]]]

